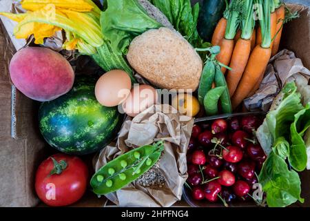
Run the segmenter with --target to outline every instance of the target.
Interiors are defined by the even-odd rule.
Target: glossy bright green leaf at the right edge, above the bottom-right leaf
[[[291,147],[289,163],[296,171],[303,171],[307,166],[307,150],[303,136],[310,127],[310,105],[298,112],[291,124]]]

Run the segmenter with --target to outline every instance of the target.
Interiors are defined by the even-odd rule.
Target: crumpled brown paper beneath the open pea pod
[[[174,113],[172,113],[174,111]],[[158,163],[132,184],[106,197],[119,206],[172,206],[181,199],[187,179],[186,153],[194,119],[169,105],[154,105],[133,119],[127,117],[116,146],[106,146],[94,157],[94,168],[138,146],[165,140]]]

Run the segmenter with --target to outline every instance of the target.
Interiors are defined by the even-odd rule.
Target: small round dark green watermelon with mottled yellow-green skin
[[[44,102],[39,128],[50,146],[63,153],[85,155],[109,144],[118,133],[117,107],[105,107],[94,95],[96,79],[77,77],[69,93]]]

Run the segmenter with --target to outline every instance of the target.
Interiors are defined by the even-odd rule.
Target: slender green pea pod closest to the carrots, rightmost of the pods
[[[220,96],[220,106],[222,107],[223,113],[232,113],[231,108],[231,100],[229,95],[229,90],[227,88],[226,79],[220,70],[220,66],[216,64],[216,73],[214,77],[214,81],[217,87],[224,86],[225,91],[223,92],[223,95]]]

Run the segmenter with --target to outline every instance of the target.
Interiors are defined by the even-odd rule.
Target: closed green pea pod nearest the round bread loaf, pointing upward
[[[215,76],[214,61],[208,60],[203,68],[203,73],[200,77],[200,83],[198,88],[198,101],[203,105],[203,99],[209,90],[212,88],[212,83]]]

